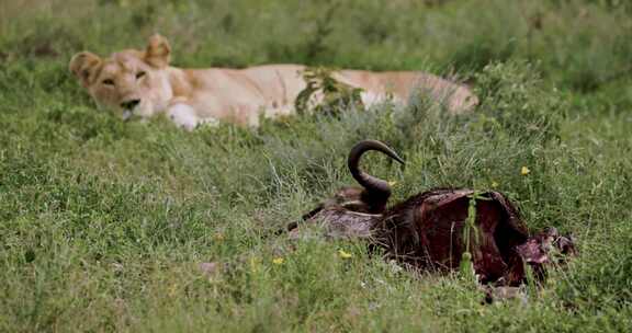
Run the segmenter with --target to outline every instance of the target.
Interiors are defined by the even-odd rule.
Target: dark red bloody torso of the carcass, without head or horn
[[[388,209],[373,226],[375,241],[387,256],[418,269],[459,268],[473,194],[471,190],[436,190],[416,195]],[[476,231],[470,239],[474,271],[482,283],[518,284],[524,273],[516,246],[528,240],[527,228],[503,194],[478,196]]]

